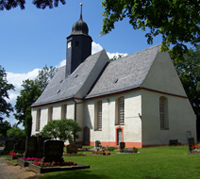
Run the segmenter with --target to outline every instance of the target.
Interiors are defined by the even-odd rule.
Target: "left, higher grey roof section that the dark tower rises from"
[[[65,78],[65,66],[58,69],[57,73],[54,75],[52,80],[49,82],[41,96],[37,99],[37,101],[32,105],[38,106],[48,103],[53,103],[57,101],[62,101],[65,99],[70,99],[75,97],[76,94],[79,94],[79,97],[82,98],[85,93],[87,93],[92,85],[94,84],[93,79],[94,75],[98,76],[101,70],[104,68],[105,64],[108,62],[107,55],[105,56],[105,50],[102,50],[94,55],[89,56],[83,63],[81,63],[77,69]],[[98,61],[102,61],[104,59],[104,63],[99,63]],[[101,68],[96,67],[96,64],[100,64]],[[94,68],[96,74],[94,74]],[[92,75],[91,75],[92,74]],[[84,84],[88,80],[88,78],[92,76],[91,84],[88,85],[88,91],[85,89]],[[80,93],[80,90],[84,88],[83,92]],[[81,95],[82,96],[81,96]]]

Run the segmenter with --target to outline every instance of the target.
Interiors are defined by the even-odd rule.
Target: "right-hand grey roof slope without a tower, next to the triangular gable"
[[[111,62],[86,98],[112,94],[139,87],[153,64],[160,45]]]

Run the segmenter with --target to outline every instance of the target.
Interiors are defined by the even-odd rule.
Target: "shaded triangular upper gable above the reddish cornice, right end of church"
[[[187,96],[168,52],[158,53],[141,87]]]

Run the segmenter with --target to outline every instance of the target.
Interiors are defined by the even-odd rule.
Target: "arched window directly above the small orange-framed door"
[[[116,101],[116,124],[124,124],[124,97],[120,97]]]

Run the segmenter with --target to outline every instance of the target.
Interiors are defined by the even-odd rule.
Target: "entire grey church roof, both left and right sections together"
[[[107,66],[108,57],[103,50],[89,56],[67,78],[65,77],[66,67],[61,67],[32,107],[76,97],[93,98],[140,87],[159,52],[159,48],[160,45],[150,47],[109,62]],[[100,64],[99,61],[104,62]],[[92,71],[97,69],[101,73],[99,72],[99,76],[92,79],[90,84],[90,78],[94,74]],[[87,93],[77,95],[82,94],[81,89],[88,84],[91,85],[91,88],[87,89]],[[84,91],[86,90],[84,89]]]

